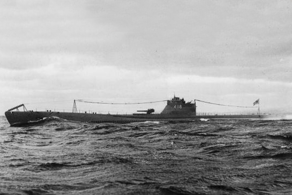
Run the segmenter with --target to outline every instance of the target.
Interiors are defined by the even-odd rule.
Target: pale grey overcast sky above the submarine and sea
[[[292,1],[0,1],[0,115],[74,99],[292,112]],[[87,104],[77,109],[131,112]],[[257,112],[197,102],[198,112]]]

